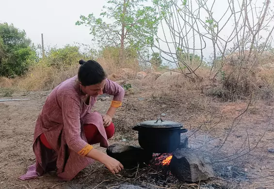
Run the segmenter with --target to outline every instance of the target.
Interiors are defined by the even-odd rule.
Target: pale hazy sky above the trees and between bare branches
[[[256,1],[257,6],[261,6],[264,0],[253,1]],[[195,1],[193,0],[192,2],[194,3]],[[213,0],[208,0],[207,5],[210,6],[212,2]],[[227,0],[217,0],[215,2],[213,12],[218,19],[226,12],[228,7],[226,6]],[[93,13],[95,16],[99,16],[105,4],[106,0],[0,0],[0,23],[13,23],[16,28],[25,30],[27,36],[36,45],[41,44],[41,33],[44,35],[45,47],[63,47],[66,44],[72,45],[74,42],[93,45],[89,28],[83,25],[76,26],[75,22],[79,20],[81,15],[87,16]],[[206,12],[201,12],[200,17],[202,19],[206,20],[206,16]],[[183,25],[184,23],[181,24]],[[271,25],[274,25],[274,22]],[[168,27],[166,25],[163,27],[165,34],[169,34]],[[199,28],[202,30],[203,26],[201,25]],[[232,29],[233,19],[226,24],[226,28],[220,35],[226,38]],[[266,33],[262,35],[266,37]],[[161,29],[159,30],[159,36],[164,38]],[[171,42],[171,38],[167,38]],[[199,43],[198,39],[196,36],[196,43]],[[189,43],[193,44],[191,38]],[[208,57],[213,51],[212,42],[207,41],[206,43],[207,47],[204,49],[203,56]],[[199,44],[196,45],[198,46]],[[167,44],[161,44],[161,48],[166,51],[169,50]],[[171,49],[171,51],[174,50]]]

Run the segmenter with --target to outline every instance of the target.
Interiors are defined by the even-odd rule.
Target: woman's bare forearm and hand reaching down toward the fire
[[[94,148],[87,154],[87,157],[103,163],[113,174],[124,169],[124,166],[118,160]]]

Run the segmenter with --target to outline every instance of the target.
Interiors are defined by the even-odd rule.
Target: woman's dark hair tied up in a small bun
[[[81,64],[81,66],[78,70],[78,79],[81,82],[81,85],[94,85],[106,79],[107,76],[104,69],[96,61],[80,60],[79,64]]]

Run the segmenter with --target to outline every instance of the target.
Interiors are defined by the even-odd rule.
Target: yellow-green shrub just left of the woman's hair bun
[[[67,69],[83,58],[85,57],[80,53],[79,47],[66,45],[63,48],[51,48],[48,52],[46,63],[58,69]]]

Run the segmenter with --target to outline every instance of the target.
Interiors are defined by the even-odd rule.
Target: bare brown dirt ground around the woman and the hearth
[[[104,179],[110,173],[99,163],[87,167],[79,174],[80,178],[69,182],[59,181],[54,173],[28,181],[17,179],[35,163],[32,152],[34,125],[48,94],[49,91],[18,93],[13,94],[13,98],[32,100],[0,102],[0,188],[103,188]],[[104,113],[109,103],[110,99],[99,100],[95,109]],[[269,153],[268,149],[274,149],[274,104],[252,102],[240,116],[248,104],[248,101],[221,103],[202,94],[193,96],[190,101],[182,96],[135,91],[126,96],[123,107],[114,117],[120,132],[110,143],[137,144],[137,135],[131,126],[164,116],[166,120],[184,123],[190,130],[190,144],[205,150],[211,157],[219,183],[227,188],[271,189],[274,188],[274,153]],[[237,116],[240,117],[235,119]],[[108,180],[108,186],[104,187],[118,186],[118,180]]]

